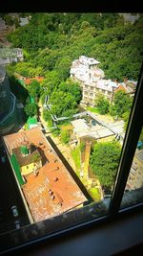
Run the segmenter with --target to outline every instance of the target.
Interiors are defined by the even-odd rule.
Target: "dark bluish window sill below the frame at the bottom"
[[[31,244],[29,247],[20,249],[19,254],[21,256],[139,256],[141,255],[139,254],[140,250],[143,249],[142,226],[142,210],[126,213],[113,221],[84,227],[76,231],[72,230],[71,233],[44,241],[42,244]]]

